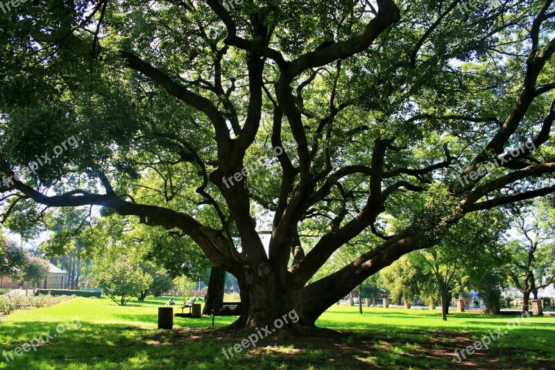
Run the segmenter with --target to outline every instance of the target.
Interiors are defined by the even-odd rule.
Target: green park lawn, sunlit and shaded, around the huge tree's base
[[[0,321],[0,369],[554,369],[555,317],[515,317],[332,306],[318,326],[344,339],[266,337],[229,360],[223,347],[246,334],[212,330],[212,319],[174,319],[157,330],[157,307],[168,298],[119,307],[108,298],[74,298],[50,308],[14,312]],[[176,298],[176,301],[178,299]],[[216,317],[223,327],[233,317]],[[512,326],[511,326],[512,327]],[[58,330],[58,332],[57,332]],[[506,332],[463,362],[454,349],[500,330]],[[63,333],[60,333],[63,332]],[[42,336],[51,338],[10,359],[8,351]],[[54,337],[56,335],[56,337]],[[36,343],[37,341],[33,342]],[[22,351],[22,350],[20,350]],[[7,356],[8,360],[6,360]]]

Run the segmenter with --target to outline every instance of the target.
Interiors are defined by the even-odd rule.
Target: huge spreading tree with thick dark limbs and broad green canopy
[[[234,4],[0,14],[3,221],[98,205],[177,230],[237,276],[238,326],[294,309],[311,333],[466,214],[554,192],[552,1]]]

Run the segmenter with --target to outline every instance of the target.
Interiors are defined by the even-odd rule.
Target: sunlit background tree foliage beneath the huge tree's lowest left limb
[[[198,275],[207,270],[205,257],[180,235],[146,230],[144,225],[110,212],[104,216],[98,219],[91,216],[90,210],[64,210],[42,219],[50,238],[41,244],[41,249],[69,271],[68,281],[74,282],[71,289],[77,287],[83,263],[90,264],[90,258],[102,258],[107,246],[127,253],[128,258],[140,265],[144,277],[152,278],[152,285],[142,290],[139,301],[144,301],[148,294],[167,292],[175,276]]]

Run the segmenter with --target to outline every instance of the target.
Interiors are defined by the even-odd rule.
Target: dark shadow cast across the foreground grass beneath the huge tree
[[[116,314],[114,316],[120,316]],[[126,320],[143,323],[157,322],[156,314],[121,315]],[[220,328],[234,320],[219,317]],[[488,321],[486,321],[488,322]],[[227,359],[222,348],[231,348],[241,342],[245,334],[227,335],[218,330],[157,330],[129,324],[99,324],[81,321],[80,328],[71,328],[45,344],[37,346],[10,360],[0,362],[7,369],[336,369],[395,367],[413,369],[467,368],[468,364],[452,362],[452,351],[461,346],[465,333],[436,333],[434,330],[391,330],[391,326],[374,326],[363,335],[352,335],[342,342],[330,338],[293,338],[276,344],[273,338],[262,339],[257,348],[234,353]],[[2,324],[0,324],[2,325]],[[200,319],[175,318],[175,326],[206,328],[212,325],[210,317]],[[12,351],[41,333],[56,333],[56,323],[41,321],[10,322],[1,326],[0,351]],[[523,341],[543,341],[549,348],[554,342],[553,330],[530,328],[515,330],[497,342],[504,351],[518,351],[519,358],[531,359],[529,347]],[[474,332],[478,335],[479,330]],[[441,342],[441,337],[454,338]],[[515,340],[522,337],[522,341]],[[456,342],[456,340],[459,342]],[[468,339],[468,342],[467,342]],[[438,348],[430,349],[436,340]],[[462,337],[471,344],[474,339]],[[524,347],[524,348],[521,348]],[[541,348],[536,348],[543,351]],[[440,351],[438,351],[440,350]],[[495,361],[494,348],[486,352]],[[536,353],[537,355],[537,353]],[[542,358],[546,358],[545,355]],[[549,352],[547,355],[549,358]],[[0,358],[6,362],[4,358]],[[522,360],[519,360],[522,361]],[[528,360],[526,360],[528,361]],[[533,362],[533,360],[531,360]],[[528,364],[528,363],[527,363]],[[534,363],[530,363],[534,364]],[[542,363],[543,364],[543,363]],[[464,366],[463,366],[464,365]],[[470,367],[472,368],[472,367]],[[484,368],[484,367],[481,367]],[[490,367],[495,368],[495,367]]]

